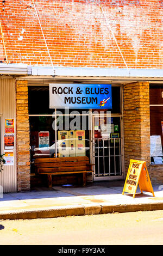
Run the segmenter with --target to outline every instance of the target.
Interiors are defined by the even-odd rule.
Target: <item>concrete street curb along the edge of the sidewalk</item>
[[[114,212],[135,212],[163,210],[163,203],[147,204],[119,204],[119,205],[78,205],[62,206],[54,209],[24,210],[24,211],[2,211],[1,220],[31,220],[35,218],[56,218],[66,216],[84,216],[97,214],[112,214]]]

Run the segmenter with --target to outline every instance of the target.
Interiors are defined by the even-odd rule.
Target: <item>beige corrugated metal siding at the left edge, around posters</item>
[[[16,99],[15,81],[11,78],[0,79],[0,119],[1,119],[1,153],[4,152],[4,132],[5,118],[14,118],[15,121],[15,146],[14,146],[14,166],[4,166],[0,173],[0,185],[3,192],[17,191],[17,171],[16,171]]]

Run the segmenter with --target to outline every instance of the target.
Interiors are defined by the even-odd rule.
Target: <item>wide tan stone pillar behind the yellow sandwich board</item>
[[[129,160],[150,164],[149,82],[129,83],[124,86],[124,165]]]

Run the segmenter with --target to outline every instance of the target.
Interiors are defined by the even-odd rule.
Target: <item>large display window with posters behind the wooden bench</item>
[[[29,117],[29,123],[33,171],[33,162],[36,158],[90,157],[89,115],[78,115],[77,117],[57,115],[56,118]],[[55,139],[56,135],[57,139]]]

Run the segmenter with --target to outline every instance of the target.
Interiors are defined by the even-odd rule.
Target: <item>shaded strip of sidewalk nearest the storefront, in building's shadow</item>
[[[87,184],[86,186],[78,185],[61,185],[47,187],[32,187],[30,191],[17,193],[4,193],[0,202],[9,200],[26,200],[26,199],[45,199],[45,198],[64,198],[74,196],[98,196],[98,195],[121,195],[123,191],[124,180],[118,181],[96,181]],[[159,185],[153,185],[154,192],[160,191]],[[127,194],[127,193],[126,193]],[[127,194],[132,197],[132,194]],[[135,198],[150,197],[146,194],[141,194],[139,187],[137,187]]]

